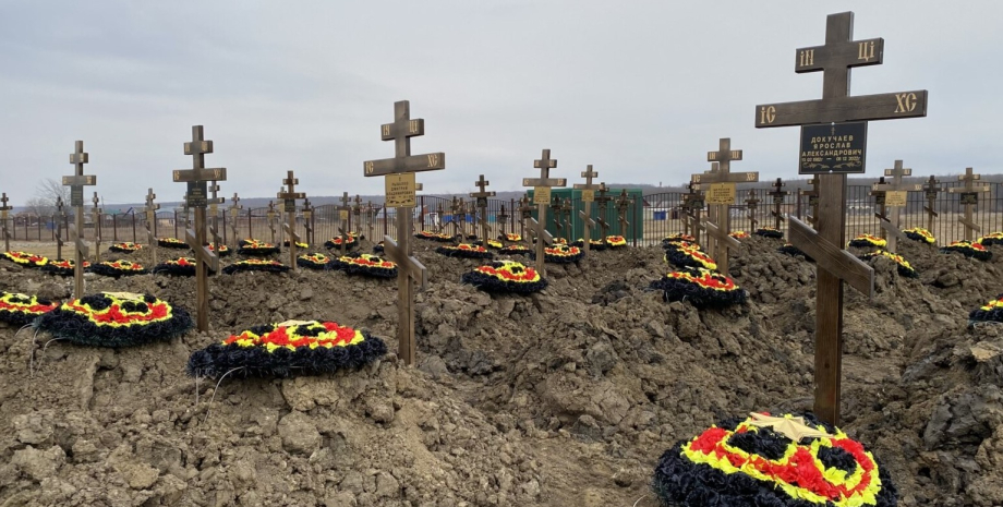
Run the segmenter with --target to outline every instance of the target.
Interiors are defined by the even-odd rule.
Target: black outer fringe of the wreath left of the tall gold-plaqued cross
[[[240,369],[232,375],[288,378],[358,370],[387,353],[387,346],[382,339],[366,331],[360,333],[365,339],[355,345],[316,349],[299,347],[297,350],[282,347],[274,352],[262,347],[214,343],[192,353],[186,371],[193,377],[219,378],[231,370]]]

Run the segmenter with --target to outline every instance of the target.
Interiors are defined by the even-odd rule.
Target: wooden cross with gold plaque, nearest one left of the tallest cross
[[[710,216],[703,220],[703,227],[708,231],[705,248],[717,262],[717,270],[727,275],[728,248],[735,248],[735,243],[725,239],[734,239],[728,233],[732,231],[730,206],[735,204],[735,183],[754,183],[759,181],[759,172],[732,172],[732,160],[741,160],[741,149],[732,149],[729,137],[718,140],[716,152],[706,154],[711,170],[693,174],[691,181],[697,183],[700,190],[708,192]],[[709,227],[708,222],[712,222],[714,227]]]

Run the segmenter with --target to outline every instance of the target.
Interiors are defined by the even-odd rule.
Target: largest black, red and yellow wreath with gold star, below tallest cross
[[[664,505],[893,507],[898,491],[874,456],[810,414],[724,421],[662,455]],[[714,503],[706,503],[713,498]]]

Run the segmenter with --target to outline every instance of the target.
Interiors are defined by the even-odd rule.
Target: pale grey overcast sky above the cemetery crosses
[[[14,204],[69,174],[83,140],[108,204],[153,186],[205,125],[225,195],[270,196],[292,169],[312,195],[382,193],[362,162],[392,156],[394,101],[425,119],[412,153],[445,152],[430,193],[519,190],[551,148],[554,177],[587,164],[607,182],[680,184],[718,137],[733,170],[797,176],[798,129],[753,128],[757,104],[821,95],[795,48],[851,10],[884,64],[854,95],[928,89],[929,116],[872,122],[868,173],[1001,172],[1003,2],[0,1],[0,191]],[[87,195],[94,189],[87,189]]]

